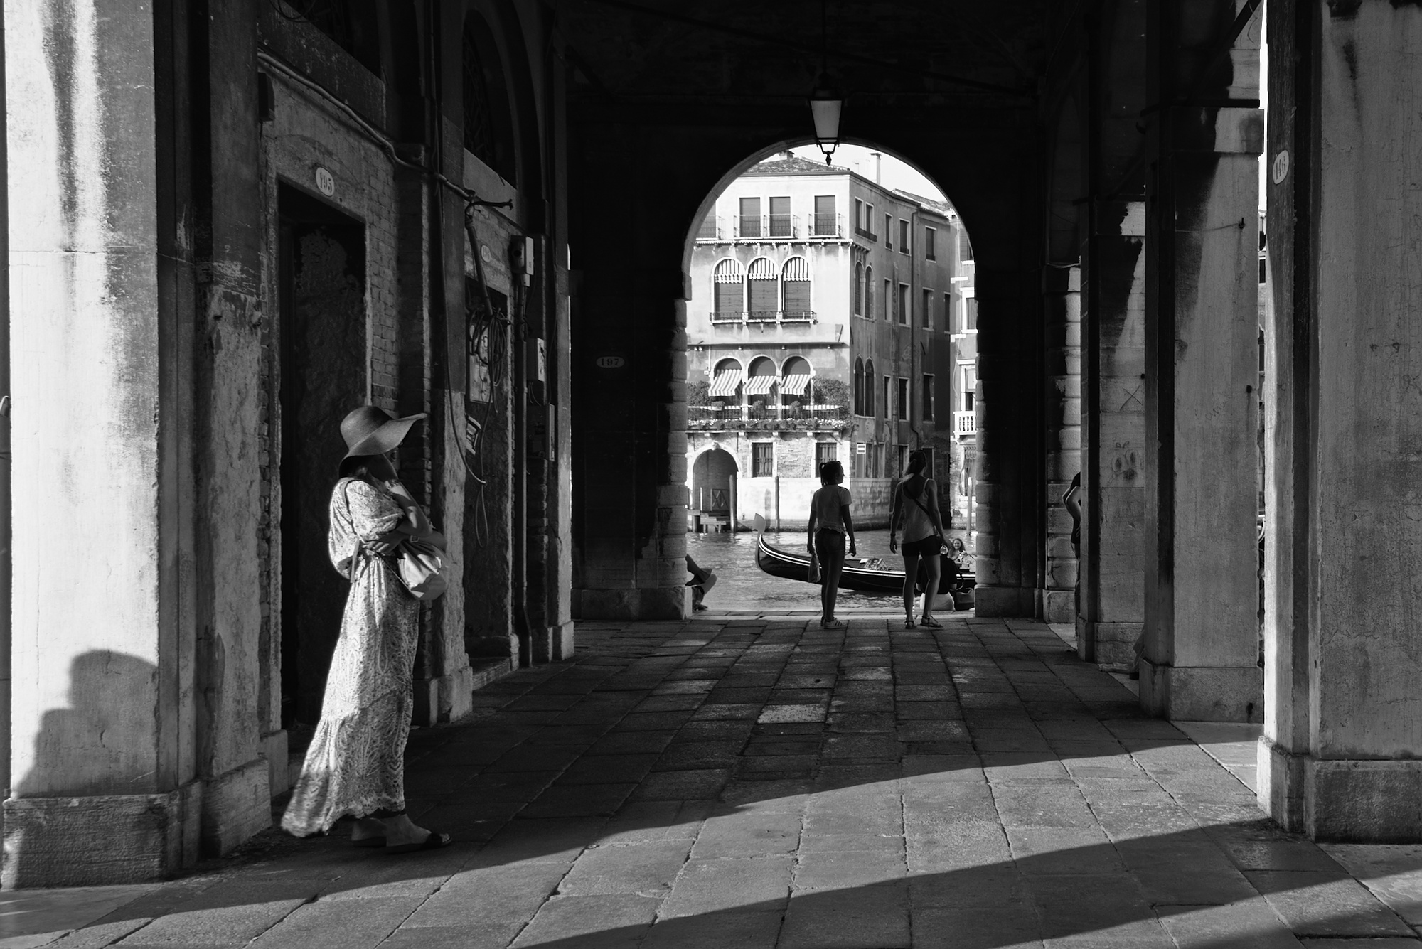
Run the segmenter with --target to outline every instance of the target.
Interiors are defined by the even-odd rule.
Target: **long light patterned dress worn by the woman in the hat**
[[[360,544],[395,527],[404,511],[383,487],[343,477],[331,493],[330,514],[331,563],[351,588],[326,676],[321,722],[282,818],[282,827],[299,837],[326,831],[346,814],[405,806],[419,601],[401,585],[390,560]]]

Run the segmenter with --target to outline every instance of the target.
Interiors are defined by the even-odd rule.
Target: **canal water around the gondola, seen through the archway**
[[[948,537],[961,537],[971,551],[966,530],[950,530]],[[805,550],[803,530],[766,531],[765,540],[782,550]],[[894,568],[903,568],[899,554],[889,553],[887,530],[855,531],[860,557],[883,557]],[[697,565],[717,575],[717,585],[707,594],[708,611],[803,609],[819,612],[819,587],[784,577],[772,577],[755,565],[755,534],[687,534],[687,553]],[[855,590],[839,591],[839,607],[856,614],[883,611],[899,615],[903,602],[897,595],[866,594]]]

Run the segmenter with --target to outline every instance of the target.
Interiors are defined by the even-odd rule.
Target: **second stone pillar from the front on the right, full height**
[[[1258,36],[1234,4],[1150,4],[1146,636],[1140,702],[1261,720],[1257,635]],[[1216,50],[1229,54],[1214,58]],[[1212,61],[1219,65],[1210,65]]]

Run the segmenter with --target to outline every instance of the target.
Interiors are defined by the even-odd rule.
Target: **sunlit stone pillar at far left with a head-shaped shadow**
[[[28,553],[13,578],[3,884],[134,882],[196,858],[202,798],[182,607],[193,284],[164,253],[172,182],[158,173],[171,115],[155,90],[173,77],[139,0],[7,3],[4,43],[14,544]]]

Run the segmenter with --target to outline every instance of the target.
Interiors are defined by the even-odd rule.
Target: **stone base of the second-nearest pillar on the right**
[[[1096,644],[1101,662],[1101,644]],[[1172,722],[1263,722],[1258,666],[1166,666],[1140,659],[1140,707]]]

